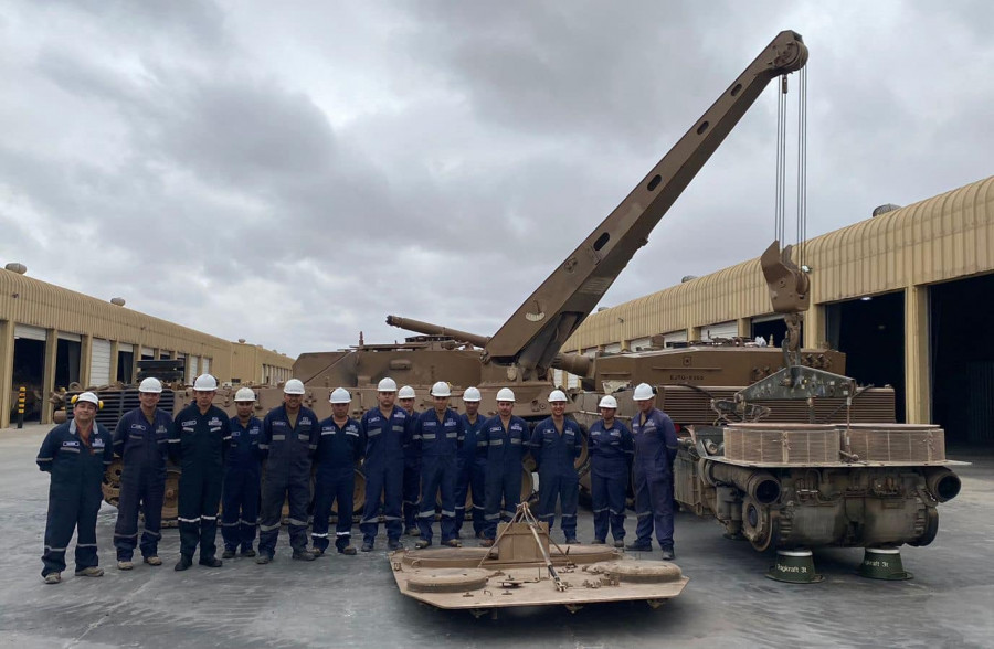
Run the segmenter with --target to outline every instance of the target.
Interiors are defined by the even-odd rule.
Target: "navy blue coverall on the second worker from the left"
[[[138,512],[145,513],[141,556],[158,556],[162,538],[162,501],[166,497],[166,458],[169,457],[169,430],[172,417],[156,408],[149,422],[141,408],[135,408],[117,422],[114,453],[120,456],[120,500],[114,546],[117,561],[131,561],[138,544]]]

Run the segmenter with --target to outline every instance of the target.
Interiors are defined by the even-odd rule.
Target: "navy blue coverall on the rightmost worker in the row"
[[[636,543],[649,545],[653,528],[664,550],[673,550],[673,461],[676,459],[676,429],[669,415],[658,408],[632,419],[635,443]]]

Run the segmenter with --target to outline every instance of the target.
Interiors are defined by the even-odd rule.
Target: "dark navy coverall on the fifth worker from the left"
[[[266,460],[262,515],[258,521],[258,553],[276,554],[283,503],[289,501],[286,523],[294,552],[307,550],[307,507],[310,504],[310,466],[321,436],[314,411],[300,406],[296,425],[290,425],[286,406],[276,406],[263,419],[258,449]]]

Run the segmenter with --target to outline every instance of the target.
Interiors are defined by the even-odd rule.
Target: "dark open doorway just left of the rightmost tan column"
[[[893,387],[895,416],[905,421],[905,294],[866,296],[825,306],[828,344],[846,354],[859,385]]]

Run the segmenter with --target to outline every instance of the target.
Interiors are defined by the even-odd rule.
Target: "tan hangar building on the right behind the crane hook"
[[[860,384],[893,386],[899,422],[939,424],[951,444],[994,443],[994,177],[875,212],[805,242],[802,343],[846,352]],[[635,351],[659,334],[668,345],[779,344],[784,333],[757,257],[592,313],[563,351]]]

